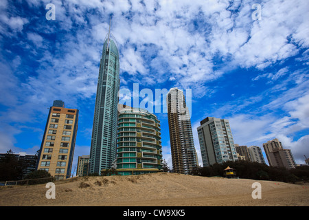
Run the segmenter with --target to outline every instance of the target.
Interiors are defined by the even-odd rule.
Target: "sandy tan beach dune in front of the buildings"
[[[258,181],[262,199],[253,199],[253,182],[176,173],[76,177],[56,182],[56,199],[45,197],[45,184],[1,187],[0,206],[309,206],[308,185]]]

